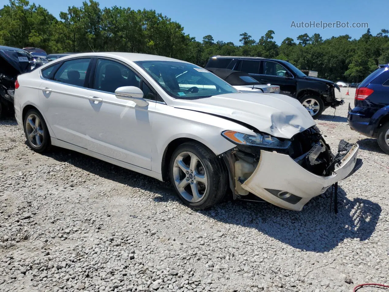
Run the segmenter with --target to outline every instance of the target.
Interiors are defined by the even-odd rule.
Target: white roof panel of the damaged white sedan
[[[173,58],[168,58],[164,56],[157,56],[157,55],[147,55],[147,54],[138,54],[138,53],[119,53],[119,52],[99,52],[99,53],[81,53],[81,54],[72,54],[66,56],[64,59],[67,58],[75,58],[77,56],[92,56],[92,57],[121,57],[125,58],[132,62],[137,61],[171,61],[171,62],[181,62],[181,63],[188,63],[182,60],[177,60]]]

